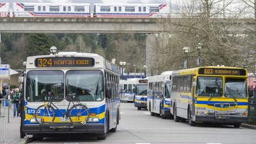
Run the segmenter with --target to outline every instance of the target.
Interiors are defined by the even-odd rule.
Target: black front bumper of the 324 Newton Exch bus
[[[31,124],[23,127],[25,134],[104,133],[104,124]]]

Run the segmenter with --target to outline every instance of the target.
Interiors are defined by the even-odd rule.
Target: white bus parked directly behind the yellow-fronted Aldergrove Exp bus
[[[170,113],[171,73],[168,71],[148,77],[147,110],[152,116],[161,115],[163,119],[173,117]]]

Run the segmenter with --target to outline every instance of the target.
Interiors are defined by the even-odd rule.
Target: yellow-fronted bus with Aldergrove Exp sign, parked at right
[[[247,70],[209,66],[172,74],[171,114],[190,126],[203,122],[240,128],[248,119]]]

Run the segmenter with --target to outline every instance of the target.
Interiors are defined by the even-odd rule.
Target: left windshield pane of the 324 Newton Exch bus
[[[29,71],[26,82],[26,100],[29,102],[50,100],[51,92],[58,93],[58,98],[64,98],[63,78],[62,71]]]

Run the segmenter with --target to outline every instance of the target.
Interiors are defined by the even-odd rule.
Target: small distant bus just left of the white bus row
[[[138,110],[147,109],[147,79],[138,79],[135,85],[134,106]]]

